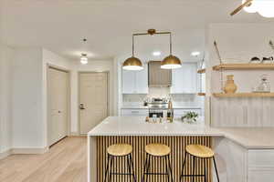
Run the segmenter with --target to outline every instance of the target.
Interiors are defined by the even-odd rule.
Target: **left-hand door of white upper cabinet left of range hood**
[[[135,71],[122,70],[122,94],[134,94],[135,91]]]

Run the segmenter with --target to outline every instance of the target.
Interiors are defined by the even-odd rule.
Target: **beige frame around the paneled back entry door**
[[[81,134],[81,131],[80,131],[80,125],[81,125],[81,122],[80,122],[80,110],[79,110],[79,104],[80,104],[80,75],[81,74],[96,74],[96,73],[105,73],[107,74],[107,93],[108,93],[108,99],[107,99],[107,113],[108,113],[108,116],[110,116],[110,71],[78,71],[78,105],[77,105],[77,109],[78,109],[78,134],[79,136],[86,136],[85,134]]]

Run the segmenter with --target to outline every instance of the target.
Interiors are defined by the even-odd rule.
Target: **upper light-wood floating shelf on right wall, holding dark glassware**
[[[220,64],[213,66],[213,70],[237,70],[237,69],[274,69],[274,64],[249,63],[249,64]]]

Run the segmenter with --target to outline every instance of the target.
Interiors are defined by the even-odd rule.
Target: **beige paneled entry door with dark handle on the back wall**
[[[79,74],[80,134],[87,134],[109,114],[108,74]]]

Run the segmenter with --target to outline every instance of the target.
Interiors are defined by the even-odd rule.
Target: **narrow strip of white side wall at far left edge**
[[[12,147],[11,81],[14,50],[0,43],[0,158]],[[4,156],[3,156],[4,157]]]

